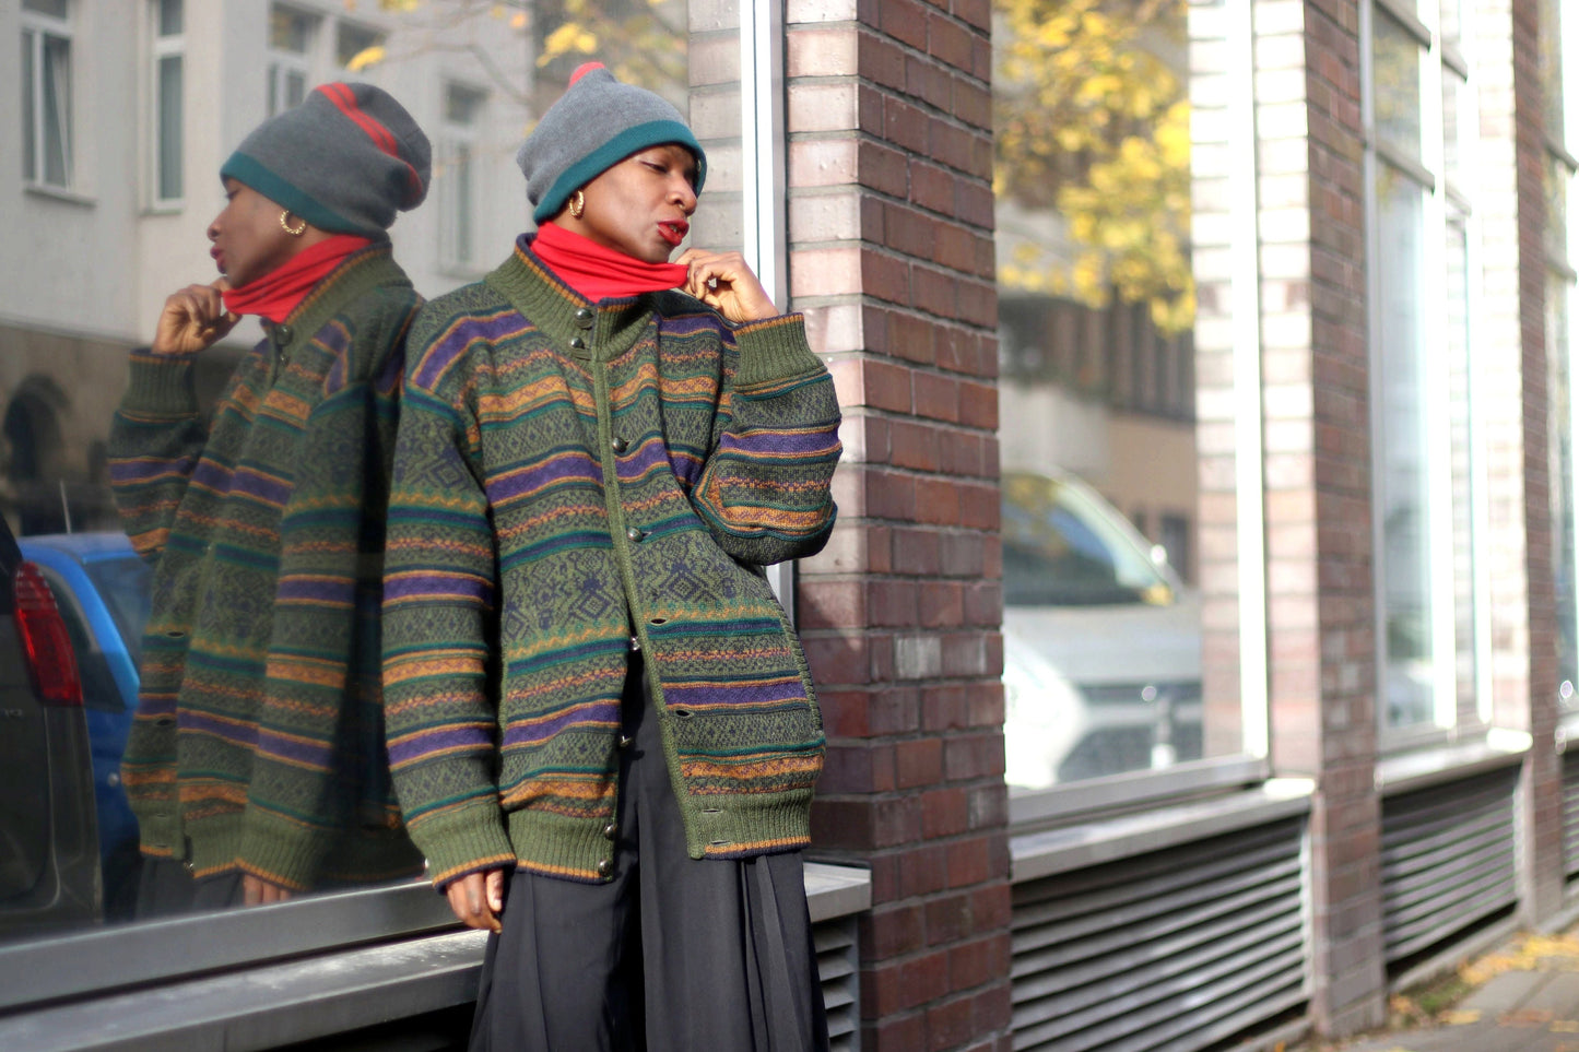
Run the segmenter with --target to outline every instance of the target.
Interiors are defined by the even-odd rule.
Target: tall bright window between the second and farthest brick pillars
[[[1374,0],[1366,14],[1377,709],[1383,742],[1402,747],[1489,716],[1476,123],[1457,0]]]

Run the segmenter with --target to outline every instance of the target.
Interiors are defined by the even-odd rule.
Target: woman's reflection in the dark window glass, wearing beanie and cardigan
[[[131,355],[111,479],[153,611],[123,776],[144,913],[414,874],[382,755],[377,610],[404,336],[420,297],[388,226],[428,139],[366,84],[327,84],[219,169],[221,278],[172,294]],[[265,338],[212,422],[196,355]]]

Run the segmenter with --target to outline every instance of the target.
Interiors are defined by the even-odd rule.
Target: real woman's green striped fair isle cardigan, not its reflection
[[[799,314],[731,330],[677,292],[591,305],[523,245],[423,308],[384,689],[437,885],[606,877],[632,646],[692,856],[807,843],[823,723],[758,567],[826,542],[837,431]]]

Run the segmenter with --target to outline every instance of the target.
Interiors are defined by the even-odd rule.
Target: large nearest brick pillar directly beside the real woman
[[[790,291],[845,408],[797,610],[865,1052],[1007,1050],[988,0],[790,0]]]

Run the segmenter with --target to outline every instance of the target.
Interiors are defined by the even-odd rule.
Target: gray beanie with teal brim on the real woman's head
[[[696,190],[701,191],[707,155],[681,112],[647,88],[621,84],[603,63],[586,63],[570,76],[570,87],[515,155],[526,174],[532,218],[545,223],[603,169],[666,142],[696,156]]]

